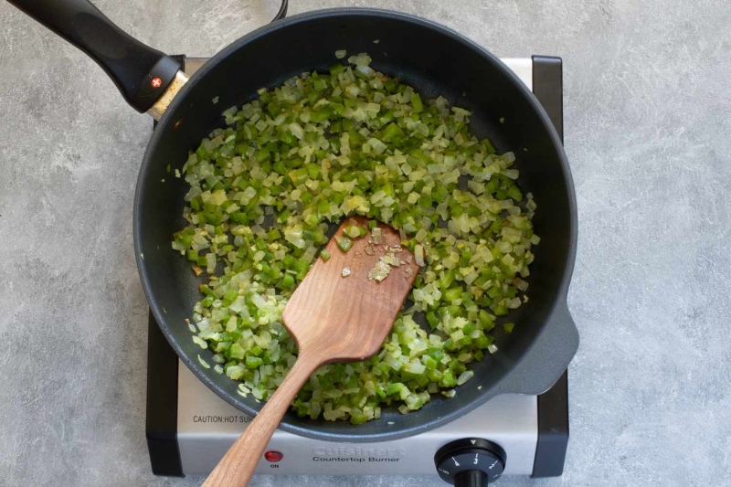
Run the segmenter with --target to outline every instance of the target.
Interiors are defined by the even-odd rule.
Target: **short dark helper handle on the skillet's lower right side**
[[[550,389],[566,371],[578,350],[578,330],[565,300],[535,338],[524,358],[503,378],[501,392],[537,396]]]

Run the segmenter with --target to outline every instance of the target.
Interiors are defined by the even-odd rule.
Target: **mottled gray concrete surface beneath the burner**
[[[275,0],[100,0],[168,52],[207,56]],[[579,247],[571,441],[559,479],[731,485],[731,5],[721,0],[292,0],[392,7],[501,56],[566,63]],[[0,2],[0,485],[198,485],[150,473],[146,307],[132,194],[151,121],[101,69]],[[253,485],[438,486],[435,478]]]

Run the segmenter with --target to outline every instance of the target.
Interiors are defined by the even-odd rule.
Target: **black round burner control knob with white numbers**
[[[455,487],[485,487],[505,470],[505,450],[487,439],[466,438],[448,443],[434,455],[441,480]]]

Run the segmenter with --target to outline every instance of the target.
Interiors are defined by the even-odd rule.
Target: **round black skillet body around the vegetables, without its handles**
[[[138,185],[135,241],[143,254],[139,263],[148,300],[179,355],[228,402],[245,412],[259,410],[262,405],[253,397],[238,395],[237,382],[197,362],[200,355],[211,363],[212,354],[192,342],[185,318],[200,300],[198,284],[206,276],[196,278],[185,257],[171,249],[173,233],[185,227],[183,196],[188,186],[183,178],[166,173],[165,167],[180,169],[188,151],[223,125],[222,111],[255,99],[261,87],[273,89],[304,71],[327,69],[337,60],[338,49],[346,49],[348,55],[367,52],[375,69],[406,81],[422,99],[442,95],[472,111],[472,132],[489,136],[500,153],[516,154],[519,185],[524,193],[534,194],[538,205],[535,233],[542,240],[535,247],[527,278],[530,301],[511,312],[510,321],[517,323],[514,333],[496,333],[499,352],[472,365],[475,376],[457,388],[455,397],[433,397],[407,415],[385,408],[380,419],[358,426],[297,418],[291,412],[282,424],[283,429],[321,439],[396,439],[439,426],[500,392],[503,377],[528,352],[556,305],[566,299],[573,264],[572,192],[566,162],[535,99],[495,58],[443,27],[372,10],[296,16],[242,37],[196,73],[154,133]]]

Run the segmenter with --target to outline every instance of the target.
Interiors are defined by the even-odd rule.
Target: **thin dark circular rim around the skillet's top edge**
[[[155,152],[156,148],[160,142],[160,139],[163,137],[163,133],[172,130],[173,125],[175,122],[174,114],[175,111],[177,111],[185,102],[187,99],[188,91],[192,90],[193,87],[196,85],[196,83],[207,76],[208,72],[211,69],[214,69],[214,67],[217,66],[218,63],[223,61],[224,59],[228,58],[229,55],[234,54],[238,51],[239,48],[243,48],[246,44],[251,42],[254,39],[257,39],[259,37],[266,36],[270,32],[279,30],[281,28],[286,28],[287,26],[297,24],[300,22],[307,22],[309,20],[313,19],[319,19],[323,17],[329,17],[329,16],[372,16],[372,17],[379,17],[379,18],[389,18],[389,19],[396,19],[403,22],[408,22],[412,24],[416,24],[418,26],[423,26],[426,28],[429,28],[431,30],[438,31],[441,35],[447,36],[452,38],[453,40],[459,42],[464,48],[471,49],[476,54],[478,54],[481,58],[484,58],[487,62],[490,62],[493,64],[493,68],[497,69],[502,73],[502,75],[511,81],[511,83],[518,89],[519,93],[524,97],[525,101],[527,101],[530,106],[535,111],[535,114],[538,115],[538,118],[540,122],[543,124],[544,129],[546,130],[546,133],[551,138],[551,142],[554,146],[554,149],[556,150],[556,155],[558,156],[558,160],[561,167],[561,172],[564,177],[566,186],[567,186],[567,202],[568,202],[568,211],[569,211],[569,235],[568,235],[568,249],[567,249],[567,262],[566,265],[563,268],[563,273],[561,276],[561,283],[558,287],[558,290],[556,291],[556,295],[554,296],[553,305],[549,312],[547,312],[547,318],[546,322],[542,325],[541,329],[536,334],[535,338],[531,342],[531,344],[528,345],[526,350],[524,351],[524,354],[521,355],[521,357],[514,363],[514,365],[505,373],[503,377],[501,377],[494,385],[493,387],[486,388],[484,391],[482,391],[482,395],[477,397],[476,399],[472,400],[470,403],[465,404],[461,408],[450,408],[443,414],[441,414],[438,418],[433,418],[430,421],[427,421],[426,423],[419,424],[417,426],[410,426],[406,428],[395,428],[390,430],[383,430],[376,433],[358,433],[358,429],[354,428],[352,429],[352,433],[331,433],[331,432],[325,432],[325,431],[319,431],[316,429],[312,429],[307,426],[301,426],[296,424],[291,424],[287,422],[287,419],[284,418],[281,422],[280,429],[297,434],[306,438],[312,438],[312,439],[323,439],[323,440],[333,440],[333,441],[350,441],[350,442],[366,442],[366,441],[388,441],[393,439],[400,439],[400,438],[406,438],[409,436],[414,436],[419,433],[428,431],[429,429],[436,429],[446,423],[449,423],[451,420],[460,418],[464,414],[469,413],[474,408],[478,408],[479,406],[482,406],[485,402],[487,402],[489,399],[503,394],[503,393],[523,393],[523,394],[534,394],[535,390],[530,389],[530,387],[526,387],[530,390],[530,392],[521,392],[521,386],[520,385],[511,385],[510,384],[510,377],[511,376],[523,376],[520,373],[518,374],[512,374],[516,369],[520,370],[522,369],[521,365],[524,365],[525,362],[529,362],[526,360],[527,357],[533,355],[535,353],[535,349],[539,348],[536,347],[536,342],[539,342],[539,337],[541,335],[546,334],[547,329],[551,326],[553,323],[554,325],[557,325],[555,323],[558,320],[566,319],[566,316],[569,317],[570,320],[570,314],[567,311],[567,292],[568,292],[568,286],[571,281],[571,277],[574,270],[574,264],[576,259],[576,252],[577,252],[577,202],[576,202],[576,191],[573,183],[573,178],[571,176],[571,171],[568,165],[567,155],[564,150],[564,145],[561,142],[561,139],[558,136],[558,133],[556,132],[556,128],[554,127],[553,123],[550,121],[550,118],[548,117],[546,111],[544,110],[543,106],[540,104],[539,101],[535,98],[535,95],[528,90],[528,88],[524,85],[523,81],[521,81],[517,75],[514,74],[513,70],[509,69],[503,62],[494,56],[491,52],[489,52],[487,49],[482,48],[475,42],[473,42],[468,37],[465,37],[461,35],[459,32],[451,29],[447,26],[442,26],[439,23],[433,22],[429,19],[420,17],[420,16],[412,16],[410,14],[400,13],[392,10],[387,9],[380,9],[380,8],[368,8],[368,7],[336,7],[336,8],[327,8],[327,9],[320,9],[320,10],[314,10],[312,12],[305,12],[296,16],[287,17],[275,22],[272,22],[266,26],[261,26],[260,28],[253,30],[249,32],[249,34],[246,34],[243,37],[239,37],[237,40],[230,43],[226,48],[223,48],[215,56],[210,58],[206,64],[196,71],[196,73],[193,74],[193,76],[190,77],[190,79],[185,83],[184,87],[180,92],[175,96],[175,99],[170,103],[170,106],[168,107],[167,111],[165,111],[163,118],[158,123],[158,126],[156,130],[153,132],[153,135],[150,139],[150,142],[147,145],[147,149],[145,151],[144,157],[143,157],[143,163],[140,167],[140,173],[138,175],[137,179],[137,185],[135,187],[135,195],[134,195],[134,207],[133,207],[133,216],[132,216],[132,233],[133,233],[133,240],[134,240],[134,250],[135,250],[135,260],[137,262],[137,270],[140,274],[140,280],[142,281],[143,285],[143,291],[145,298],[147,299],[147,302],[150,306],[150,309],[152,310],[154,314],[154,318],[157,321],[157,323],[160,326],[161,331],[163,332],[165,339],[167,342],[173,347],[175,350],[175,354],[181,359],[181,361],[190,369],[190,371],[199,379],[201,380],[206,386],[211,389],[214,393],[217,394],[218,397],[221,397],[222,399],[226,400],[228,404],[232,405],[235,408],[238,408],[238,410],[243,411],[244,413],[248,414],[249,416],[253,417],[255,416],[260,408],[251,408],[248,404],[239,401],[238,397],[234,397],[231,394],[228,394],[226,390],[224,390],[221,386],[218,386],[216,382],[211,380],[209,377],[207,377],[202,367],[198,366],[196,361],[185,355],[185,353],[182,351],[181,347],[178,345],[177,341],[173,337],[172,333],[169,330],[169,327],[167,325],[167,321],[165,319],[165,313],[162,311],[162,306],[160,306],[154,298],[154,291],[152,289],[152,286],[150,284],[150,279],[148,277],[148,270],[146,267],[146,263],[144,259],[141,257],[142,253],[142,221],[143,216],[141,214],[142,212],[142,199],[143,199],[143,193],[144,193],[144,185],[147,179],[150,177],[149,172],[150,168],[153,165],[154,159],[155,159]],[[567,341],[567,345],[565,348],[567,350],[565,351],[565,356],[567,357],[565,360],[565,364],[562,363],[562,371],[565,370],[568,366],[568,364],[573,359],[573,356],[577,352],[578,347],[578,339],[577,339],[577,330],[574,323],[569,323],[568,325],[569,331],[576,334],[575,340],[573,341]],[[560,374],[555,377],[554,382],[560,377]],[[552,386],[553,383],[546,386],[546,389],[544,389],[541,392],[545,392],[550,386]],[[535,385],[534,385],[535,386]],[[541,386],[543,388],[543,386]],[[517,389],[517,390],[516,390]],[[263,403],[261,404],[261,407],[263,407]],[[306,423],[305,423],[306,424]]]

